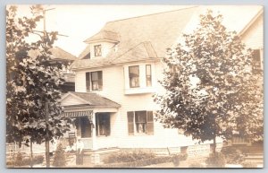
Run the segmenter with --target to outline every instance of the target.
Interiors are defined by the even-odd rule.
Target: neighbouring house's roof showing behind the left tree
[[[66,52],[63,50],[63,48],[54,47],[50,48],[49,51],[51,51],[51,59],[52,60],[68,60],[68,61],[74,61],[77,59],[76,56],[71,55],[69,52]],[[38,56],[37,50],[29,50],[29,56]]]

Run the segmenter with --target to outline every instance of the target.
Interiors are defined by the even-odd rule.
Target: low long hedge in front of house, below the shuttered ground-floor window
[[[131,162],[137,160],[145,160],[155,158],[155,153],[152,151],[119,151],[112,153],[107,158],[105,158],[105,163],[114,162]]]

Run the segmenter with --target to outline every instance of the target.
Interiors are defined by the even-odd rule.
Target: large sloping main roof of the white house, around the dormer
[[[77,69],[109,65],[109,63],[111,64],[115,59],[116,62],[113,62],[114,64],[118,63],[117,61],[127,62],[128,59],[136,59],[137,61],[138,59],[135,55],[138,49],[139,54],[144,55],[143,60],[162,57],[165,55],[166,48],[172,46],[172,43],[177,39],[181,30],[187,25],[196,8],[197,7],[189,7],[172,12],[154,13],[130,19],[107,22],[99,33],[102,33],[104,30],[112,30],[117,33],[119,39],[119,43],[117,44],[118,50],[111,50],[107,57],[100,58],[102,60],[97,61],[100,64],[96,65],[95,59],[81,59],[88,55],[90,51],[88,45],[80,54],[80,60],[75,61],[71,67]],[[87,40],[92,40],[93,37]],[[128,57],[125,58],[124,54],[126,53],[128,53]],[[132,56],[130,57],[131,54]],[[95,65],[89,65],[90,63]]]

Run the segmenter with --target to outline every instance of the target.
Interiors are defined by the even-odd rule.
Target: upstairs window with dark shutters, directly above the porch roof
[[[103,72],[88,72],[86,73],[86,90],[100,91],[103,90]]]

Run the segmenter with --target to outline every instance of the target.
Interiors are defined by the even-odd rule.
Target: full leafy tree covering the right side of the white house
[[[253,74],[252,51],[212,11],[181,40],[163,58],[165,93],[155,94],[156,118],[199,143],[214,140],[214,153],[217,136],[262,140],[263,72]]]

